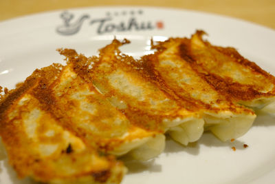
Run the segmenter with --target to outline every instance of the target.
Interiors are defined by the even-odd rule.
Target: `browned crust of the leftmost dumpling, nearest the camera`
[[[1,99],[0,134],[10,164],[20,177],[42,182],[120,183],[122,163],[106,153],[100,156],[96,146],[85,144],[63,123],[51,88],[62,69],[36,70]]]

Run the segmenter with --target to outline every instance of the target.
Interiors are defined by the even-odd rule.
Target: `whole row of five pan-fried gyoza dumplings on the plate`
[[[188,145],[204,131],[221,141],[248,132],[254,110],[275,101],[275,78],[203,34],[152,45],[155,54],[138,61],[120,52],[127,40],[99,57],[58,50],[67,65],[34,71],[0,102],[0,134],[19,176],[120,183],[126,168],[113,156],[151,159],[165,134]]]

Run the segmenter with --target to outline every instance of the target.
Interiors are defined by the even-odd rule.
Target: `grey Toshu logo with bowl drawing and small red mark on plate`
[[[163,21],[140,21],[139,16],[144,14],[143,10],[106,12],[104,17],[93,18],[90,14],[83,14],[75,17],[73,13],[61,13],[62,25],[58,25],[56,32],[62,35],[73,35],[80,31],[84,23],[96,27],[97,34],[112,32],[131,32],[133,30],[155,30],[163,29]],[[123,20],[118,21],[118,17]]]

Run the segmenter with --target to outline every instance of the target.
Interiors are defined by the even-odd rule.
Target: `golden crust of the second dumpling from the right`
[[[142,57],[140,63],[150,65],[151,71],[162,77],[166,86],[179,98],[189,99],[199,108],[214,113],[229,111],[236,114],[254,114],[252,110],[232,103],[230,98],[226,98],[209,85],[204,73],[195,65],[195,61],[186,56],[186,53],[189,53],[188,47],[183,44],[186,42],[190,41],[168,39],[153,45],[153,48],[157,49],[155,54]]]

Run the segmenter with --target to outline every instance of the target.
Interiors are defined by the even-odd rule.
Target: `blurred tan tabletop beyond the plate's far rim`
[[[275,29],[275,0],[0,0],[0,21],[87,6],[158,6],[223,14]]]

